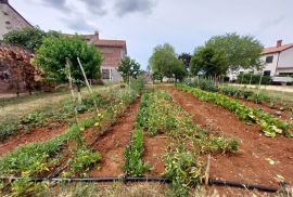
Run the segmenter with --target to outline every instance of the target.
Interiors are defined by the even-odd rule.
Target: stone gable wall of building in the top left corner
[[[0,40],[11,30],[33,27],[8,0],[0,0]]]

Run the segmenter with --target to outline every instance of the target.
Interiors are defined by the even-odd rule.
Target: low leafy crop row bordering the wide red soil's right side
[[[290,132],[292,126],[289,122],[283,121],[280,118],[264,111],[263,109],[249,107],[245,104],[242,104],[241,102],[226,95],[216,92],[207,92],[199,88],[189,87],[187,84],[177,84],[177,88],[179,90],[190,92],[201,101],[214,103],[231,110],[241,120],[244,120],[249,123],[259,124],[266,136],[273,137],[277,134],[282,134],[288,137],[293,136]]]

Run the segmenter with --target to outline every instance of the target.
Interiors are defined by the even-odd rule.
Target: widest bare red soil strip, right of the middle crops
[[[234,114],[211,103],[199,101],[189,93],[165,87],[193,120],[204,128],[221,131],[240,141],[238,154],[213,156],[211,178],[265,185],[278,185],[283,176],[293,183],[293,140],[269,139],[256,124],[247,126]]]

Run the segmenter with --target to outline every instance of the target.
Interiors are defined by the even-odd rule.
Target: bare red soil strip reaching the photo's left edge
[[[41,142],[53,137],[66,130],[65,123],[53,123],[48,127],[35,128],[29,133],[20,132],[0,143],[0,156],[31,142]]]

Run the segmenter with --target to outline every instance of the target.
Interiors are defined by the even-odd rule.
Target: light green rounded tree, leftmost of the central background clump
[[[149,60],[149,67],[152,74],[155,74],[162,81],[163,77],[174,77],[175,67],[180,63],[181,61],[177,58],[175,49],[170,44],[165,43],[154,48],[153,54]]]

